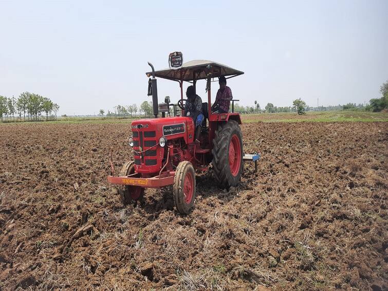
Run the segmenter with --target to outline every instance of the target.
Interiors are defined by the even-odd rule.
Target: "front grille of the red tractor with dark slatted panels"
[[[141,166],[155,166],[157,165],[157,144],[156,140],[149,140],[149,138],[156,137],[155,131],[133,131],[134,150],[137,152],[145,151],[143,155],[135,154],[135,165]],[[144,139],[147,140],[144,140]],[[154,147],[154,148],[152,148]],[[150,149],[152,148],[152,149]],[[140,150],[141,149],[141,150]]]

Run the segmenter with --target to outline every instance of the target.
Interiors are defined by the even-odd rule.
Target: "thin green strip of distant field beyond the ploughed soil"
[[[6,122],[0,124],[28,124],[28,123],[131,123],[136,118],[103,118],[100,117],[76,117],[76,118],[58,118],[54,121],[39,121],[39,122]],[[388,113],[386,112],[357,112],[357,111],[321,111],[307,112],[305,115],[296,113],[264,113],[264,114],[243,114],[244,123],[255,122],[371,122],[371,121],[388,121]]]

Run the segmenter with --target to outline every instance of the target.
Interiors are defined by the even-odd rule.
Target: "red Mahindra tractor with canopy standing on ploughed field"
[[[180,58],[179,58],[180,57]],[[120,185],[120,196],[128,204],[143,197],[145,188],[160,188],[173,185],[174,204],[180,213],[190,212],[195,199],[195,171],[205,171],[213,166],[214,177],[220,188],[236,186],[241,180],[243,160],[255,161],[260,155],[244,156],[241,118],[232,112],[211,113],[211,81],[213,78],[228,78],[244,72],[219,63],[196,60],[182,64],[180,53],[170,54],[170,68],[155,71],[149,80],[149,95],[153,98],[155,118],[140,119],[131,124],[132,136],[128,142],[133,148],[134,160],[123,166],[120,176],[107,177],[111,184]],[[180,86],[178,104],[158,103],[156,78],[177,81]],[[208,102],[202,103],[205,116],[200,127],[199,142],[195,141],[194,120],[183,117],[183,82],[190,82],[194,88],[197,80],[207,80]],[[172,107],[172,110],[170,110]],[[174,116],[170,116],[170,111]],[[179,114],[180,111],[180,114]],[[161,117],[158,118],[159,113]],[[168,115],[168,117],[166,117]],[[182,115],[182,116],[180,116]],[[197,135],[198,136],[198,135]]]

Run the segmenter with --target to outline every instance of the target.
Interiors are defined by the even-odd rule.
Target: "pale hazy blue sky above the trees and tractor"
[[[363,103],[388,79],[387,11],[385,0],[0,0],[0,95],[38,93],[68,115],[140,104],[147,61],[165,68],[182,51],[243,70],[228,85],[244,105]],[[178,84],[160,79],[158,93],[176,101]]]

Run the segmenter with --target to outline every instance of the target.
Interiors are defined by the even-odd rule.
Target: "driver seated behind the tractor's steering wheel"
[[[195,124],[195,139],[199,140],[201,133],[202,121],[204,121],[204,115],[202,114],[202,99],[195,94],[194,86],[187,87],[186,90],[187,101],[184,104],[183,116],[190,116],[194,120]]]

